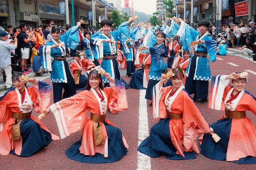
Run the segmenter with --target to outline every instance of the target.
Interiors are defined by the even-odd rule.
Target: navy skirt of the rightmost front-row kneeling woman
[[[210,125],[216,133],[220,140],[215,142],[212,138],[212,135],[209,133],[204,134],[204,140],[201,146],[201,154],[204,156],[215,159],[215,160],[224,160],[227,158],[228,142],[231,131],[231,118],[225,118],[218,120],[217,122]],[[256,157],[247,156],[240,158],[236,161],[231,161],[238,164],[254,164],[256,163]]]

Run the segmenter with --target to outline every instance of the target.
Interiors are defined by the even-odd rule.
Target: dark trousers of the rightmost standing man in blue
[[[185,90],[196,99],[207,99],[209,81],[193,80],[196,71],[196,56],[193,56],[190,63],[189,75],[186,79]]]

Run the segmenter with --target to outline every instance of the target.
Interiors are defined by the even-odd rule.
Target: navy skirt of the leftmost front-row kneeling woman
[[[42,147],[46,147],[52,141],[51,134],[45,131],[32,119],[24,119],[20,124],[22,137],[22,150],[20,156],[29,157]],[[15,149],[11,151],[16,155]]]

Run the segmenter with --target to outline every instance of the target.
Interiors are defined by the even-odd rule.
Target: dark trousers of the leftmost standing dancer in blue
[[[66,67],[65,67],[66,68]],[[53,87],[53,102],[57,103],[61,99],[65,99],[68,97],[71,97],[76,94],[76,84],[75,80],[68,68],[66,70],[66,75],[67,75],[67,83],[52,83]],[[62,96],[62,88],[64,89],[64,93]]]

